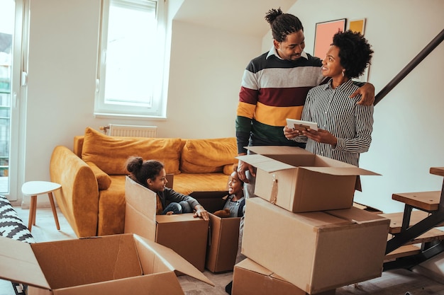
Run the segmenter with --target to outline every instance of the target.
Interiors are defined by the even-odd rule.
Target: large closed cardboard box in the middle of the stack
[[[390,220],[362,209],[292,213],[245,204],[242,253],[309,294],[382,274]]]

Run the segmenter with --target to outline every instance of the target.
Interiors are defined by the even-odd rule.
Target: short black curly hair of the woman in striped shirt
[[[360,33],[351,30],[336,33],[331,45],[339,48],[340,65],[345,69],[345,76],[350,79],[361,76],[370,64],[373,50]]]

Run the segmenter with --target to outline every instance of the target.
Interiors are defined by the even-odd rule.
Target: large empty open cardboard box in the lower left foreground
[[[184,294],[175,270],[214,286],[171,249],[137,235],[33,244],[0,237],[0,249],[0,277],[28,284],[29,295]]]

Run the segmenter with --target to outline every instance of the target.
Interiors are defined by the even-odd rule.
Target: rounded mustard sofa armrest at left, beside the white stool
[[[79,238],[96,236],[99,187],[91,168],[66,146],[56,146],[50,160],[50,177],[62,185],[55,198],[74,233]]]

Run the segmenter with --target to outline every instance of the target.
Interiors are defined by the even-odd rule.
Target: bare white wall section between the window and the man
[[[234,137],[243,70],[260,54],[260,41],[174,21],[168,119],[161,132],[182,138]]]

